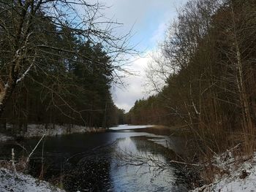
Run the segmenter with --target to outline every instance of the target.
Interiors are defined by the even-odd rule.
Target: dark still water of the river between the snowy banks
[[[16,156],[26,155],[38,140],[21,142],[28,152],[1,144],[0,156],[10,159],[11,147]],[[181,139],[151,128],[47,137],[29,173],[67,191],[188,191],[184,174],[168,163],[182,146]]]

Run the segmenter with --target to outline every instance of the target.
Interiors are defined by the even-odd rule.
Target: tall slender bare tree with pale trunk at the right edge
[[[252,93],[252,79],[254,76],[255,61],[253,59],[255,49],[255,2],[254,1],[227,1],[227,18],[221,28],[227,41],[222,42],[228,50],[220,50],[225,55],[224,63],[228,65],[229,74],[223,80],[233,85],[233,96],[241,112],[241,127],[244,132],[246,152],[253,153],[255,124],[253,122],[252,103],[255,101]]]

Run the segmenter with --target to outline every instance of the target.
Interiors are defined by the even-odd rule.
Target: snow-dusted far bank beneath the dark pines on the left
[[[12,128],[12,125],[7,124],[7,131]],[[86,133],[86,132],[102,132],[106,131],[106,128],[89,128],[85,126],[76,126],[76,125],[49,125],[48,128],[45,128],[45,125],[40,124],[29,124],[27,126],[25,133],[17,133],[17,137],[32,138],[32,137],[42,137],[45,136],[57,136],[65,134],[76,134],[76,133]],[[15,137],[7,136],[7,134],[0,133],[0,142],[6,142],[7,140],[15,139]]]

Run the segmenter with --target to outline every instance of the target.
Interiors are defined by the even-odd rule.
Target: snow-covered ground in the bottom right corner
[[[222,158],[217,158],[220,161]],[[240,160],[241,161],[241,160]],[[219,167],[225,167],[230,174],[224,177],[216,175],[214,183],[196,188],[193,192],[221,191],[221,192],[252,192],[256,191],[256,153],[255,158],[236,164],[236,159],[230,157],[228,161],[219,162]]]

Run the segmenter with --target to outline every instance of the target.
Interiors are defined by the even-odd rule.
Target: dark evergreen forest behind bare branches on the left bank
[[[84,18],[72,6],[83,7]],[[127,37],[111,35],[118,23],[99,26],[99,9],[84,1],[0,1],[3,128],[119,123],[124,111],[113,104],[110,88]]]

